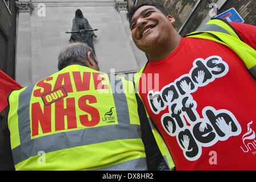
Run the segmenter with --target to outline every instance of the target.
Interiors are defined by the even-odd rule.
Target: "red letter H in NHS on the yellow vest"
[[[77,128],[74,97],[66,99],[66,108],[64,108],[63,99],[55,102],[55,131],[65,130],[65,115],[67,117],[67,129]]]

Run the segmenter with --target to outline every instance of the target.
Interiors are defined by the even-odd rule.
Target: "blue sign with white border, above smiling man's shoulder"
[[[234,9],[234,7],[215,16],[215,18],[225,19],[228,22],[245,22],[245,20],[243,20],[243,18],[237,13],[237,10]]]

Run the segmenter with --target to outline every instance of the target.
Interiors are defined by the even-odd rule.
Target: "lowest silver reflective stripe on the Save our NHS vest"
[[[133,159],[94,171],[147,171],[147,160],[146,158]]]

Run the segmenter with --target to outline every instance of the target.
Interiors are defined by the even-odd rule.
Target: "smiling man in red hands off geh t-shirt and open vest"
[[[135,83],[176,168],[255,170],[256,27],[212,19],[182,38],[157,3],[127,18],[150,57]],[[143,80],[151,74],[159,74],[154,88]]]

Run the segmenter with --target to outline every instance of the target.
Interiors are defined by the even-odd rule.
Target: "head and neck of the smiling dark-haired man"
[[[147,20],[149,16],[150,19]],[[174,51],[181,40],[172,26],[174,22],[173,16],[168,15],[161,6],[142,6],[130,20],[133,40],[152,60],[161,60]]]

